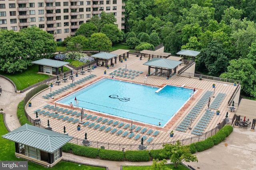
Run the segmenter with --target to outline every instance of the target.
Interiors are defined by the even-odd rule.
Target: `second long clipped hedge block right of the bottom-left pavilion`
[[[104,150],[100,149],[100,159],[122,161],[124,160],[124,152],[117,150]]]

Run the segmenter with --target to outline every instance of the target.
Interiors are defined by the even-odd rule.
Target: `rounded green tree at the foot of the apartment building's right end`
[[[106,23],[100,32],[106,34],[112,43],[118,43],[123,40],[122,31],[118,29],[117,25]]]

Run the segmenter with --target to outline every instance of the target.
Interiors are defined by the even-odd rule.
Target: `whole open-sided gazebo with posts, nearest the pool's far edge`
[[[143,65],[148,66],[148,73],[150,74],[150,69],[155,68],[161,69],[161,70],[167,70],[167,74],[170,75],[172,72],[172,69],[174,69],[174,72],[176,72],[176,68],[179,64],[181,64],[182,61],[174,61],[169,59],[163,59],[163,58],[153,58],[150,61],[147,61]]]

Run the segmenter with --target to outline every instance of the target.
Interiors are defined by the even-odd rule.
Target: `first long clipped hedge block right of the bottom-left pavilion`
[[[78,145],[74,145],[74,144],[72,146],[72,152],[76,155],[85,156],[88,158],[96,158],[99,153],[98,149],[96,149],[96,148],[78,146]]]

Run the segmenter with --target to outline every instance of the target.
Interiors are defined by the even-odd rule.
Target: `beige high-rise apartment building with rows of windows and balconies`
[[[19,31],[36,25],[64,41],[102,11],[113,12],[118,28],[124,29],[124,6],[122,0],[0,0],[0,29]]]

